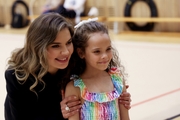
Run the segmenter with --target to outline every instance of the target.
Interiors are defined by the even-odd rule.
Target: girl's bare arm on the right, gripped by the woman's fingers
[[[123,84],[124,84],[123,92],[126,92],[125,83],[123,82]],[[128,109],[126,109],[123,104],[119,104],[119,107],[120,107],[121,120],[130,120]]]

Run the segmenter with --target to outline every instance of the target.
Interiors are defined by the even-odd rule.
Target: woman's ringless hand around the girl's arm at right
[[[126,89],[129,85],[126,85]],[[123,92],[119,97],[119,103],[123,104],[128,110],[131,108],[131,95],[128,92]]]

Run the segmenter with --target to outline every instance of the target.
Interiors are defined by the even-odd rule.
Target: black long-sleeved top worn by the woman
[[[5,101],[5,120],[64,120],[60,113],[59,91],[48,84],[38,96],[30,91],[34,78],[29,76],[20,84],[14,70],[5,71],[7,96]],[[51,76],[46,77],[47,80]],[[37,86],[41,88],[41,86]],[[52,95],[53,94],[53,95]],[[54,95],[55,94],[55,95]]]

